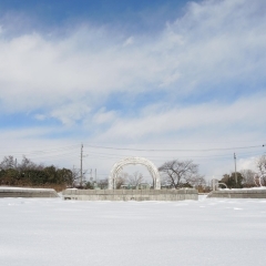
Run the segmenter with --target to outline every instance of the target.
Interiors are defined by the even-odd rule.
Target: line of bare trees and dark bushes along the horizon
[[[265,173],[262,178],[262,184],[266,185],[266,155],[257,160],[258,173]],[[165,188],[182,188],[182,187],[196,187],[198,191],[208,190],[206,181],[200,174],[198,165],[192,160],[167,161],[158,167],[162,180],[162,187]],[[258,185],[254,181],[255,172],[252,170],[242,170],[232,174],[224,174],[219,182],[225,183],[227,187],[252,187]],[[108,178],[101,180],[98,184],[92,182],[83,182],[80,184],[80,171],[59,168],[54,165],[44,166],[43,164],[35,164],[25,156],[21,162],[17,162],[13,156],[4,156],[0,163],[0,185],[8,186],[42,186],[42,187],[79,187],[79,188],[106,188]],[[132,175],[121,172],[116,180],[116,188],[136,187],[144,182],[141,173],[135,172]]]

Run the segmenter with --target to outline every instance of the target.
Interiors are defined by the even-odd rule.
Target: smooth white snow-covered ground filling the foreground
[[[266,200],[0,198],[1,266],[266,265]]]

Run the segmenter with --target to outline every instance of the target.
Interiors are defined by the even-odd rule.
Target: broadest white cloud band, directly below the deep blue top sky
[[[73,94],[100,101],[112,92],[137,94],[160,86],[176,95],[198,93],[217,90],[227,79],[246,81],[254,74],[263,79],[262,6],[255,1],[250,8],[244,0],[191,3],[185,16],[164,31],[139,37],[135,44],[130,37],[125,42],[131,45],[124,49],[120,33],[84,25],[61,39],[38,32],[1,37],[1,109],[54,109],[64,100],[79,105]]]

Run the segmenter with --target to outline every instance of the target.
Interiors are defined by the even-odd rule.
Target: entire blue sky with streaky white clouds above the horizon
[[[254,168],[265,13],[265,0],[0,0],[0,156],[79,168],[83,143],[100,177],[126,156],[192,158],[206,178],[234,153]]]

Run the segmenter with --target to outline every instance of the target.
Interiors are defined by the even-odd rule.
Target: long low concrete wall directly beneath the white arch
[[[73,190],[62,192],[63,200],[74,201],[197,201],[197,190]]]

